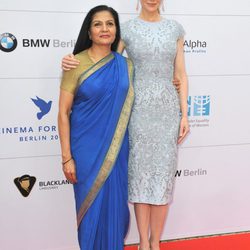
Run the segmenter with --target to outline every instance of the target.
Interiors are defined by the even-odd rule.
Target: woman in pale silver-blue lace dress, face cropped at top
[[[138,1],[139,4],[139,1]],[[119,51],[135,67],[129,123],[129,201],[134,203],[140,250],[159,250],[177,167],[177,144],[189,132],[184,30],[160,14],[161,0],[140,0],[138,17],[121,27]],[[72,55],[64,70],[77,67]],[[179,79],[179,95],[172,84]],[[178,82],[178,81],[177,81]],[[177,83],[178,85],[178,83]]]

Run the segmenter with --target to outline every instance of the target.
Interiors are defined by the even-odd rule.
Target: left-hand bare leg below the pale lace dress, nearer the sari
[[[150,222],[149,204],[134,203],[135,217],[140,236],[140,249],[149,249],[149,222]]]

